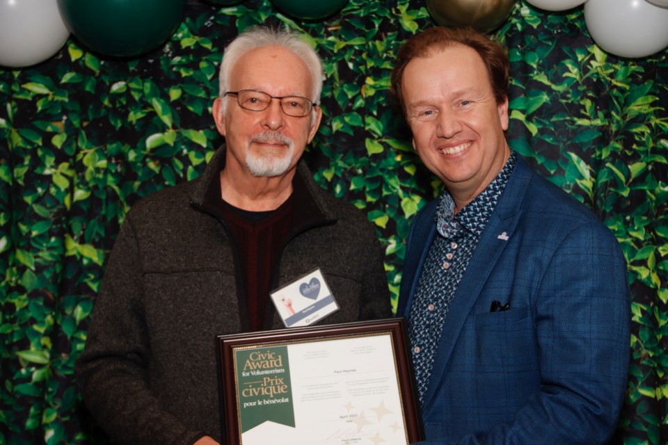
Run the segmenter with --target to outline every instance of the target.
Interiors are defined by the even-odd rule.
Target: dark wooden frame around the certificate
[[[360,334],[390,334],[408,443],[412,444],[424,440],[420,404],[415,396],[417,393],[413,375],[413,362],[408,352],[406,321],[403,317],[397,317],[337,325],[291,327],[281,330],[228,334],[216,337],[223,443],[241,444],[234,350],[248,348],[249,346],[263,348],[307,341],[337,340],[359,337]]]

